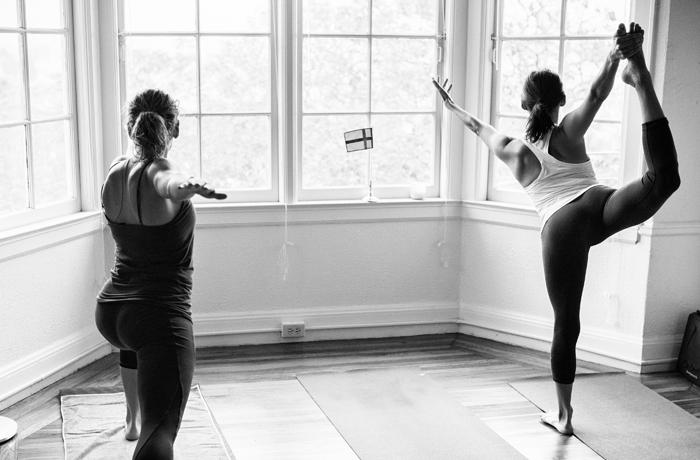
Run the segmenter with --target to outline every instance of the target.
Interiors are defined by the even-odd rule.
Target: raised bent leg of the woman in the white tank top
[[[664,117],[644,53],[630,56],[622,79],[634,87],[642,109],[642,144],[647,171],[610,196],[603,210],[605,237],[653,216],[680,186],[673,136]]]

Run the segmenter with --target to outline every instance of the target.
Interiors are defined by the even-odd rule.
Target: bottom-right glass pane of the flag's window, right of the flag
[[[372,127],[372,174],[376,185],[433,184],[433,115],[375,115]]]

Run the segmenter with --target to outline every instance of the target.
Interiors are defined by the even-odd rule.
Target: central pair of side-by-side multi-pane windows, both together
[[[277,201],[280,177],[291,199],[360,199],[370,173],[380,197],[437,196],[442,3],[119,0],[122,114],[147,88],[178,99],[169,156],[232,201]],[[343,140],[368,126],[371,171]]]

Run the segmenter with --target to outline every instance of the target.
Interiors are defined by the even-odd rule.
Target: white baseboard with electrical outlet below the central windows
[[[454,333],[458,312],[456,302],[432,302],[195,313],[195,340],[211,347]],[[306,335],[283,339],[281,325],[288,321],[303,321]]]

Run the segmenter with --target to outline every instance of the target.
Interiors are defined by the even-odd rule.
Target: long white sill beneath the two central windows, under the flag
[[[364,201],[304,201],[287,205],[289,224],[431,221],[461,218],[460,201],[386,199]],[[198,204],[197,227],[284,225],[283,203]],[[445,215],[446,214],[446,215]]]

